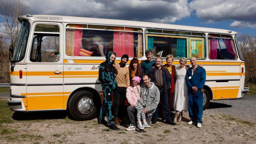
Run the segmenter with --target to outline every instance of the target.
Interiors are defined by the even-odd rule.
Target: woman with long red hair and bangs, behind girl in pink
[[[130,81],[133,77],[141,77],[141,66],[139,64],[138,58],[133,58],[129,65],[129,72],[130,72]]]

